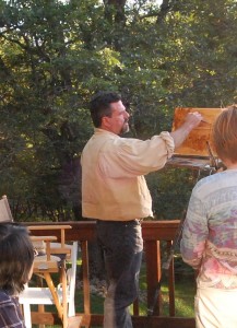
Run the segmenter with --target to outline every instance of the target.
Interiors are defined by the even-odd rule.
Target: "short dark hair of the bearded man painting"
[[[121,95],[116,92],[100,91],[90,102],[90,112],[94,126],[99,128],[104,116],[111,116],[110,104],[121,101]]]

